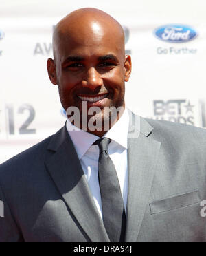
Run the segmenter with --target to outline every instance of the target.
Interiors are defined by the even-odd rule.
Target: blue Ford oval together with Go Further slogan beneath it
[[[187,43],[198,36],[198,33],[194,28],[187,26],[187,25],[163,25],[159,28],[156,28],[154,31],[154,36],[161,40],[168,43]],[[174,46],[171,47],[157,47],[157,54],[161,55],[180,55],[180,54],[196,54],[197,49],[195,48],[188,48],[188,47],[179,47],[176,48]]]

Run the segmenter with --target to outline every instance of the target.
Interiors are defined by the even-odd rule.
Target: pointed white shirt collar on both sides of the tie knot
[[[104,137],[114,140],[119,145],[127,149],[128,125],[129,115],[128,110],[125,109],[121,118],[119,118],[119,120],[115,123],[115,125],[113,125],[113,127],[111,127],[109,131],[107,131]],[[91,147],[91,145],[93,145],[93,142],[95,142],[95,140],[98,140],[99,137],[72,125],[69,119],[67,119],[66,126],[67,131],[69,132],[69,136],[71,137],[73,145],[78,154],[78,158],[81,159],[82,156],[84,156],[87,150]]]

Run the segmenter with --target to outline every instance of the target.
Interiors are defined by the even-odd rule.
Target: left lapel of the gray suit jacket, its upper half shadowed
[[[45,162],[58,190],[91,242],[109,242],[73,143],[64,127],[48,147]]]

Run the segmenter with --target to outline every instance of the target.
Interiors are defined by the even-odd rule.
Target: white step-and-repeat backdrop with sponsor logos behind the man
[[[130,109],[206,127],[205,0],[0,0],[0,163],[64,125],[46,62],[54,25],[82,7],[104,10],[124,27]]]

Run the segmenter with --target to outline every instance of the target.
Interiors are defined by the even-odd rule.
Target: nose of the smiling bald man
[[[89,70],[87,70],[82,85],[85,87],[98,87],[103,85],[101,75],[95,67],[90,67]]]

